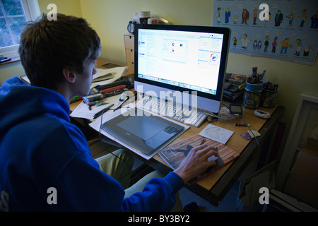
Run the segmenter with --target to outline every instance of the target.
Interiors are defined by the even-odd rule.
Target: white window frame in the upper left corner
[[[37,0],[21,0],[21,3],[23,5],[25,19],[27,21],[34,21],[41,15]],[[19,44],[11,45],[9,47],[1,47],[0,55],[4,55],[4,57],[8,58],[19,57],[18,47]]]

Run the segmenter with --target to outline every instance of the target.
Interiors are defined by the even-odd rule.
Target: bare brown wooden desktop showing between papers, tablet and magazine
[[[98,59],[98,67],[100,67],[102,64],[105,64],[107,62],[109,62],[109,61]],[[78,106],[78,104],[79,104],[79,102],[73,102],[70,105],[71,110],[75,109]],[[228,105],[227,102],[224,102],[224,104]],[[279,111],[276,111],[276,109],[278,109],[278,108],[280,108]],[[272,119],[271,119],[271,124],[268,127],[265,126],[266,128],[263,128],[263,131],[261,131],[261,129],[262,129],[262,127],[264,127],[266,122],[269,123],[268,122],[269,119],[261,119],[259,117],[256,117],[254,115],[254,109],[247,109],[247,108],[243,107],[242,119],[244,119],[244,121],[250,125],[251,129],[255,129],[255,130],[259,131],[261,133],[261,136],[263,136],[264,134],[262,134],[262,133],[268,133],[269,129],[273,129],[273,127],[275,127],[275,124],[277,124],[278,120],[281,118],[281,115],[283,114],[283,107],[276,106],[276,107],[273,107],[271,109],[266,109],[266,108],[259,108],[259,109],[264,110],[266,112],[269,112],[270,114],[272,114],[272,116],[273,116],[273,113],[276,112],[275,117],[272,117]],[[220,121],[213,121],[212,122],[213,125],[220,126],[224,129],[228,129],[230,131],[234,131],[231,138],[229,139],[229,141],[227,143],[225,143],[225,145],[232,148],[237,153],[242,154],[243,150],[246,150],[247,147],[251,146],[250,143],[255,142],[255,141],[254,141],[254,139],[246,140],[245,138],[242,138],[241,134],[247,133],[247,127],[235,126],[235,123],[242,123],[242,121],[240,121],[240,119],[228,119],[228,121],[226,123],[222,123]],[[199,128],[196,128],[194,126],[190,126],[190,128],[186,132],[184,132],[181,136],[179,136],[171,144],[177,143],[179,141],[183,141],[184,139],[187,139],[191,136],[194,136],[194,135],[200,133],[207,125],[208,125],[208,121],[204,121],[204,123],[201,124],[201,126],[199,126]],[[260,139],[261,139],[261,137],[260,137]],[[248,156],[241,157],[242,156],[241,155],[237,159],[237,160],[240,160],[240,158],[242,158],[241,162],[243,161],[243,163],[240,163],[240,169],[249,159],[249,157],[250,157],[249,155],[252,155],[252,150],[249,150],[249,153],[247,153],[246,155],[248,155]],[[196,191],[204,193],[204,195],[202,197],[208,199],[208,201],[210,201],[211,203],[213,203],[213,202],[215,203],[215,202],[220,201],[220,197],[217,197],[216,198],[217,200],[211,201],[211,197],[209,197],[209,196],[211,196],[211,191],[212,191],[213,187],[215,187],[216,184],[220,184],[220,180],[223,179],[225,172],[228,171],[228,169],[231,167],[231,165],[233,165],[233,164],[237,165],[237,163],[235,163],[236,161],[230,162],[228,165],[225,165],[224,167],[213,172],[212,174],[209,174],[204,179],[201,179],[201,181],[197,182],[194,186]],[[151,167],[154,167],[155,169],[158,169],[158,170],[164,169],[163,171],[165,171],[165,172],[172,170],[158,154],[156,154],[151,160],[146,161],[146,163],[148,165],[151,165]],[[236,168],[233,170],[236,170]],[[225,183],[228,183],[228,182],[225,182]],[[227,184],[225,184],[225,186],[226,185]],[[223,187],[222,187],[222,189],[223,189]],[[217,193],[219,193],[219,194],[222,193],[223,194],[222,196],[224,196],[226,194],[226,193],[224,194],[223,191],[218,191]],[[201,195],[201,194],[199,194],[199,195]],[[216,196],[218,196],[218,194],[216,194]],[[216,203],[216,205],[217,205],[217,203]]]

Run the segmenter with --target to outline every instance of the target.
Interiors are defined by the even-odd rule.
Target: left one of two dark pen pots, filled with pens
[[[253,73],[246,81],[244,91],[243,106],[248,109],[259,108],[261,102],[261,92],[263,89],[263,73],[257,73],[257,67],[253,68]]]

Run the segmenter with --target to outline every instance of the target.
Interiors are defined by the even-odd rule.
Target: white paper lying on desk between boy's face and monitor
[[[124,73],[126,73],[128,71],[128,67],[127,66],[118,66],[118,67],[112,68],[112,69],[96,69],[96,71],[97,71],[97,73],[95,73],[93,78],[99,78],[100,76],[105,76],[105,74],[107,74],[107,73],[112,73],[113,78],[107,79],[105,81],[92,83],[92,85],[90,85],[90,88],[94,88],[96,85],[105,85],[105,84],[113,83],[118,78],[121,78],[124,75]]]

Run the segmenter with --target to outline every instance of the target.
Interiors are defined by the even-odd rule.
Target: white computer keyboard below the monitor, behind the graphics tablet
[[[207,114],[204,112],[197,111],[196,109],[192,110],[189,107],[182,109],[181,105],[177,105],[174,102],[151,96],[145,96],[136,102],[136,107],[195,127],[199,127],[207,117]]]

